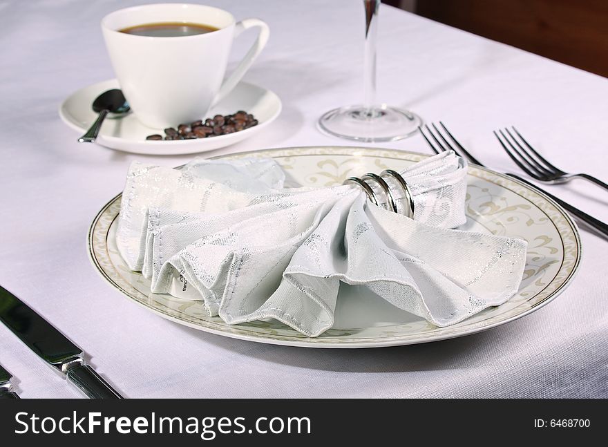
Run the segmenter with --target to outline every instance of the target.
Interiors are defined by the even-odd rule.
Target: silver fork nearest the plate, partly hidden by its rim
[[[452,133],[450,133],[450,131],[448,131],[448,128],[444,125],[444,123],[442,123],[441,121],[439,122],[439,126],[441,126],[441,129],[443,129],[443,132],[439,131],[439,129],[437,128],[435,123],[431,123],[431,126],[433,126],[434,132],[433,132],[433,130],[430,129],[430,127],[428,125],[425,125],[426,133],[428,133],[430,138],[426,135],[426,133],[423,131],[423,129],[421,127],[419,127],[418,130],[420,131],[421,135],[424,137],[424,139],[430,146],[430,149],[433,150],[433,152],[441,153],[444,151],[451,150],[451,151],[454,151],[455,153],[457,153],[458,155],[460,155],[461,157],[468,159],[471,163],[477,164],[480,167],[485,167],[484,164],[482,164],[482,162],[480,162],[477,158],[473,157],[473,155],[471,155],[471,153],[469,153],[464,148],[464,146],[462,146],[462,144],[460,144],[458,142],[458,140],[455,139],[454,135],[452,135]],[[435,142],[435,144],[433,144],[433,142],[431,142],[431,140],[433,140]],[[452,141],[453,143],[450,144],[450,141]],[[540,191],[541,193],[543,193],[545,196],[551,198],[552,200],[555,200],[555,202],[558,202],[559,205],[561,205],[564,209],[567,209],[567,211],[569,211],[573,216],[575,216],[576,219],[578,220],[578,222],[582,222],[583,224],[586,225],[587,228],[600,234],[600,236],[602,236],[604,238],[608,238],[608,225],[606,225],[601,220],[598,220],[598,219],[594,218],[593,216],[589,216],[589,214],[587,214],[583,211],[580,211],[580,209],[573,207],[568,202],[564,202],[562,199],[553,196],[552,194],[548,193],[547,191],[544,191],[544,189],[540,189],[535,184],[530,183],[529,181],[525,180],[524,178],[521,178],[518,175],[511,174],[511,173],[506,173],[505,175],[509,175],[509,177],[515,178],[515,179],[519,180],[520,182],[525,183],[528,186],[532,187],[533,189]]]

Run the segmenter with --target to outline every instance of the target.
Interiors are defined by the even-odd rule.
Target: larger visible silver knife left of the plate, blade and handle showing
[[[92,399],[122,399],[82,358],[82,349],[17,296],[0,287],[0,321]]]

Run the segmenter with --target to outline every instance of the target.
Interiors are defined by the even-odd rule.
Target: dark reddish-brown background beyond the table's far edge
[[[608,77],[608,0],[385,0]]]

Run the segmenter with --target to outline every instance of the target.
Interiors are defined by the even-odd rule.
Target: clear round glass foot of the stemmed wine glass
[[[319,118],[319,129],[323,133],[363,142],[402,140],[416,133],[421,124],[421,118],[415,113],[386,104],[372,108],[334,108]]]

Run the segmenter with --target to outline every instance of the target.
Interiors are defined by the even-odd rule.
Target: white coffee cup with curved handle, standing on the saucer
[[[199,23],[218,30],[184,37],[120,32],[131,26],[163,22]],[[224,80],[232,41],[248,28],[259,28],[258,37]],[[225,10],[182,3],[117,10],[102,19],[102,32],[118,83],[133,113],[154,129],[204,118],[209,108],[238,84],[269,36],[267,24],[259,19],[236,22]]]

